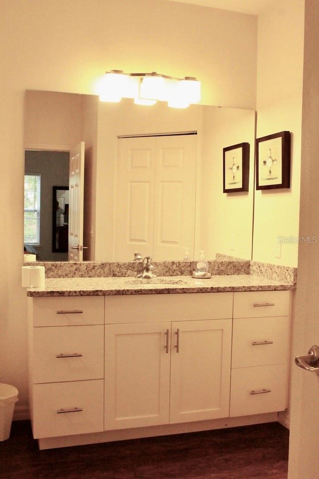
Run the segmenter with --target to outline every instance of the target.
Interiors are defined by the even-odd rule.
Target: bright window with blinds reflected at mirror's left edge
[[[24,175],[24,244],[40,244],[41,176]]]

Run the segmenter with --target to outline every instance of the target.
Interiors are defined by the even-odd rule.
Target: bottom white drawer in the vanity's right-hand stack
[[[230,417],[283,411],[286,407],[285,365],[232,369]]]

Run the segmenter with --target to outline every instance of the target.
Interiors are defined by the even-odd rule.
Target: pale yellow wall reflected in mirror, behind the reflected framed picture
[[[250,144],[249,191],[223,193],[223,148]],[[255,112],[234,108],[204,111],[201,239],[207,258],[223,253],[251,259],[254,201]]]

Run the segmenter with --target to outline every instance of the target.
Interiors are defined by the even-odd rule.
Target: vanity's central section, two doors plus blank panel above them
[[[233,293],[105,298],[105,429],[228,416]]]

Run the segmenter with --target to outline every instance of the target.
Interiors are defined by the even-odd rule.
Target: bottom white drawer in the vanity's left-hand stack
[[[32,421],[34,439],[103,431],[103,402],[103,379],[35,384]]]

